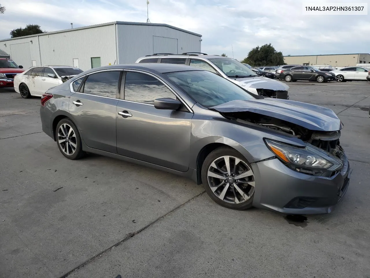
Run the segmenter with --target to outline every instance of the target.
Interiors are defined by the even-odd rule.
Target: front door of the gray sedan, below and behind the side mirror
[[[154,99],[176,96],[150,75],[128,71],[123,80],[116,110],[118,154],[186,172],[193,113],[156,109]]]

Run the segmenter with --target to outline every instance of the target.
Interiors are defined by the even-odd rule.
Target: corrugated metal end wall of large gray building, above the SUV
[[[139,57],[158,52],[168,52],[166,51],[168,50],[166,40],[162,40],[162,47],[158,43],[154,46],[153,36],[177,39],[177,52],[174,54],[201,51],[202,38],[194,34],[166,26],[117,24],[119,63],[135,63]]]

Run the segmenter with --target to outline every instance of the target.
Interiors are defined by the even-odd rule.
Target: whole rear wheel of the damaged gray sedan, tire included
[[[62,119],[57,125],[56,133],[58,148],[66,158],[79,159],[84,155],[80,134],[70,119]]]

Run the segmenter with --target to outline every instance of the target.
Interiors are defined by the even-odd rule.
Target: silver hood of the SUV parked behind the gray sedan
[[[247,77],[247,78],[237,78],[230,80],[248,90],[248,88],[253,89],[268,89],[268,90],[287,90],[289,86],[278,80],[270,79],[263,76]]]

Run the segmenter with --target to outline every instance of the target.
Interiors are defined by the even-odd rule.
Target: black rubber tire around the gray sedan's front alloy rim
[[[250,207],[252,207],[254,189],[255,189],[255,185],[254,185],[255,180],[254,180],[253,171],[252,171],[252,175],[247,177],[248,179],[250,179],[249,182],[251,184],[253,184],[253,186],[245,183],[245,181],[242,181],[242,179],[244,179],[244,178],[240,178],[240,180],[234,180],[234,182],[237,182],[238,188],[243,189],[243,192],[246,193],[246,196],[248,196],[247,200],[242,200],[242,198],[240,198],[242,195],[239,195],[239,191],[236,190],[236,187],[234,187],[235,183],[228,183],[229,186],[226,189],[227,192],[226,192],[226,194],[224,194],[225,198],[223,198],[223,199],[218,197],[216,195],[216,193],[218,192],[218,190],[223,191],[223,189],[225,189],[225,187],[226,187],[225,183],[224,183],[224,186],[221,186],[221,187],[220,187],[220,185],[213,186],[213,188],[215,188],[215,187],[218,188],[218,189],[215,190],[215,193],[213,193],[213,191],[211,189],[211,183],[215,182],[215,184],[219,184],[221,179],[216,178],[216,180],[218,180],[218,181],[215,181],[214,180],[215,178],[209,177],[208,176],[208,170],[210,169],[211,164],[213,162],[215,162],[218,159],[222,159],[223,156],[230,156],[231,157],[229,165],[231,165],[231,163],[232,163],[231,160],[233,158],[238,158],[241,161],[239,163],[236,163],[236,164],[238,164],[238,165],[241,164],[241,166],[244,167],[244,169],[245,169],[243,171],[245,171],[245,172],[249,171],[249,170],[252,171],[252,167],[250,166],[248,160],[246,160],[245,157],[242,156],[235,149],[232,149],[232,148],[229,148],[229,147],[221,147],[221,148],[215,149],[215,150],[213,150],[213,152],[211,152],[206,157],[206,159],[204,160],[203,165],[202,165],[202,183],[203,183],[203,186],[205,188],[205,191],[207,192],[207,194],[209,195],[209,197],[211,197],[211,199],[213,201],[215,201],[216,203],[218,203],[221,206],[224,206],[224,207],[230,208],[230,209],[237,209],[237,210],[249,209]],[[234,165],[235,165],[235,160],[233,160],[233,162],[234,162]],[[233,167],[233,169],[235,169],[235,168],[236,168],[236,166]],[[213,169],[215,169],[215,168],[213,168]],[[230,169],[231,169],[231,167],[230,167]],[[240,172],[239,173],[237,172],[237,174],[235,174],[235,178],[236,178],[237,175],[240,175]],[[225,180],[226,179],[228,179],[228,178],[225,176]],[[242,183],[238,183],[240,181],[242,181]],[[221,181],[221,183],[222,182],[223,181]],[[244,184],[246,184],[246,185],[244,185]],[[253,187],[253,190],[252,190],[252,187]],[[249,191],[248,191],[248,188],[250,188]],[[247,191],[249,192],[249,194],[247,193]],[[238,192],[238,193],[236,193],[236,192]],[[219,195],[221,195],[221,194],[222,193],[220,193]],[[238,195],[238,198],[236,197],[237,195]],[[240,202],[240,203],[236,203],[235,201],[232,201],[232,198],[237,198],[238,202]],[[229,201],[224,201],[225,199],[229,200]]]

